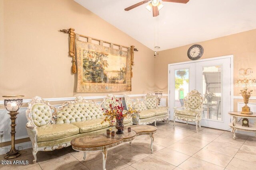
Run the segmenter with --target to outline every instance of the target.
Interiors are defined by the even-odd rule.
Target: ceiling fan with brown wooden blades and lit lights
[[[124,10],[129,11],[132,10],[133,8],[136,8],[140,5],[146,4],[148,1],[151,1],[147,6],[146,9],[151,12],[153,12],[153,17],[156,17],[159,15],[159,10],[162,9],[164,6],[162,3],[159,2],[159,0],[144,0],[142,2],[139,2],[137,4],[134,4],[132,6],[129,6],[128,8],[125,8]],[[186,4],[188,3],[189,0],[162,0],[163,2],[177,2],[177,3],[182,3]]]

